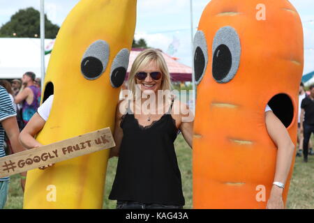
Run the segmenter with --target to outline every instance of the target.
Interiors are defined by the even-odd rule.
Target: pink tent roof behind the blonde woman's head
[[[130,73],[130,68],[132,67],[133,61],[142,50],[144,49],[133,48],[132,51],[130,52],[130,61],[128,63],[127,77],[128,74]],[[163,52],[161,53],[163,54],[163,58],[167,63],[172,82],[192,82],[192,68],[182,63],[179,63],[177,61],[177,58],[169,56]]]

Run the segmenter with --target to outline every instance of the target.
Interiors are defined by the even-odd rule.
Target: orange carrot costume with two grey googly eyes
[[[266,208],[277,148],[264,109],[269,104],[296,144],[301,20],[287,0],[212,0],[198,29],[193,206]]]

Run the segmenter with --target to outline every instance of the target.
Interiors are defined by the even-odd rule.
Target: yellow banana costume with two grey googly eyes
[[[136,0],[82,0],[58,33],[43,100],[54,101],[41,144],[110,127],[128,67]],[[109,150],[27,174],[24,208],[102,208]]]

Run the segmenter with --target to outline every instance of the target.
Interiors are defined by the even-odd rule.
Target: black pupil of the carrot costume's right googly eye
[[[220,81],[230,72],[232,55],[229,47],[222,44],[217,47],[213,56],[213,77]]]

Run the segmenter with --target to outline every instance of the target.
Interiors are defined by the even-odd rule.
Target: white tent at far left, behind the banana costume
[[[45,40],[49,45],[51,39]],[[50,54],[45,56],[45,67]],[[0,79],[22,78],[27,71],[40,75],[40,38],[0,38]]]

